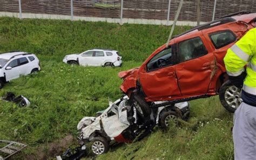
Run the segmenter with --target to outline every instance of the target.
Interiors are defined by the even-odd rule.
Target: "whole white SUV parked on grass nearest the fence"
[[[117,67],[122,65],[122,57],[118,51],[95,48],[83,53],[66,55],[63,62],[71,65]]]

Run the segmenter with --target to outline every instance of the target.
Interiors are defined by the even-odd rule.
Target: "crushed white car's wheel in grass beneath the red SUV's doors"
[[[176,124],[178,124],[178,114],[173,111],[167,111],[161,114],[159,119],[159,126],[161,129],[167,130],[169,128],[170,120],[172,119]]]

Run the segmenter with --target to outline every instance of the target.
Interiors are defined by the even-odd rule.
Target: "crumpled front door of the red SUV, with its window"
[[[173,46],[165,48],[151,60],[142,71],[139,71],[139,80],[147,101],[170,100],[180,96],[176,76]]]

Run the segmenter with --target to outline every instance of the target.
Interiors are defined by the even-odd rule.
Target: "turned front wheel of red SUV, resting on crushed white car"
[[[138,113],[142,117],[148,117],[151,114],[151,108],[142,98],[142,96],[134,95],[134,107],[138,110]]]

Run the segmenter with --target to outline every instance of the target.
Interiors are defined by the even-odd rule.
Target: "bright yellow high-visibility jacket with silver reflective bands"
[[[245,92],[256,95],[256,28],[248,31],[244,37],[227,50],[224,58],[227,74],[238,76],[247,65],[244,81]]]

